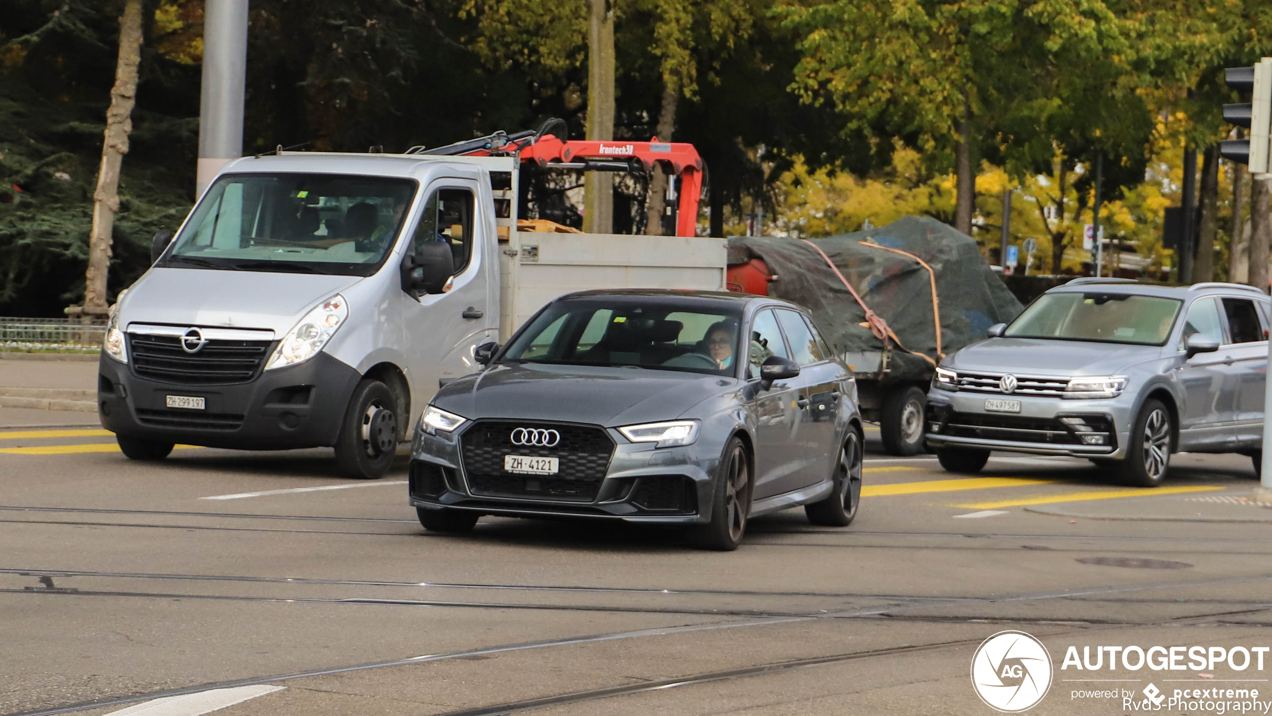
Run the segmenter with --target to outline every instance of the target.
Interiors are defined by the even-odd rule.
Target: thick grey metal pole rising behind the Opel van
[[[247,4],[248,0],[207,0],[204,10],[197,196],[202,196],[226,162],[243,155]]]

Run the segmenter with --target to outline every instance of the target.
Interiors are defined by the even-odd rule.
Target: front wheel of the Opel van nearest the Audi
[[[384,477],[397,454],[397,404],[379,380],[363,380],[345,410],[336,436],[336,463],[355,479]]]

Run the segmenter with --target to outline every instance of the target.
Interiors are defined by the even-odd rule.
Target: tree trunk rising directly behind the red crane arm
[[[614,139],[614,14],[605,0],[589,0],[588,17],[588,140]],[[583,230],[614,230],[614,181],[609,172],[584,176]]]

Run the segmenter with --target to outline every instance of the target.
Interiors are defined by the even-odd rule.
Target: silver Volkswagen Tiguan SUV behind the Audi
[[[1144,487],[1177,451],[1258,469],[1268,319],[1268,296],[1239,284],[1076,279],[941,362],[927,443],[953,472],[990,450],[1089,458]]]

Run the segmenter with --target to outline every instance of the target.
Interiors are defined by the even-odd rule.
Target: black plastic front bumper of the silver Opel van
[[[102,354],[97,404],[102,426],[134,437],[207,448],[285,450],[336,444],[361,375],[319,352],[248,383],[178,384],[135,375]],[[170,408],[168,396],[204,398],[204,410]]]

